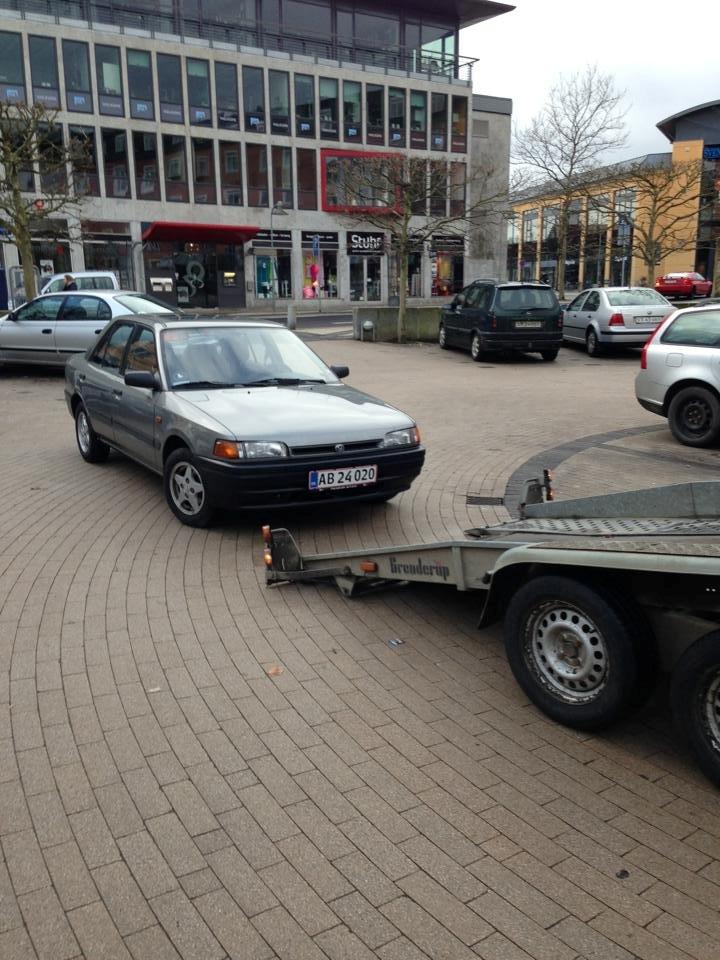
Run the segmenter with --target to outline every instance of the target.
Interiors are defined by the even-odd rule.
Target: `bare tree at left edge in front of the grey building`
[[[28,300],[37,293],[33,225],[77,213],[87,182],[88,145],[79,138],[65,144],[56,117],[41,104],[0,103],[0,229],[18,248]]]

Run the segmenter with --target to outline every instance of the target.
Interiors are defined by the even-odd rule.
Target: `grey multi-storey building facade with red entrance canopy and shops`
[[[38,270],[111,269],[123,286],[183,306],[392,302],[387,238],[333,204],[329,166],[409,154],[452,182],[477,156],[506,182],[510,104],[473,98],[458,35],[510,9],[0,0],[0,98],[57,111],[65,141],[90,157],[77,221],[38,217]],[[23,188],[41,200],[38,174]],[[450,191],[445,202],[449,213]],[[482,243],[434,236],[408,293],[449,294],[476,270],[497,272],[502,233],[489,223]],[[12,287],[12,242],[0,256]]]

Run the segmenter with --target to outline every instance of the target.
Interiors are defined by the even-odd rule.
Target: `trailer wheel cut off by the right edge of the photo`
[[[682,655],[670,701],[677,729],[705,776],[720,786],[720,630],[705,634]]]

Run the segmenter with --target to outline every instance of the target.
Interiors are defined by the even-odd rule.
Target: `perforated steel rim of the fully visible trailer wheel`
[[[543,689],[565,703],[589,703],[607,686],[605,638],[573,604],[548,600],[537,606],[525,627],[523,654]]]

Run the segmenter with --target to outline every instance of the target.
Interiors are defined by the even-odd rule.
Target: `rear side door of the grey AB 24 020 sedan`
[[[113,324],[101,337],[87,364],[78,374],[78,390],[93,430],[111,443],[114,442],[115,406],[123,394],[120,371],[134,328],[135,325],[128,321]]]

